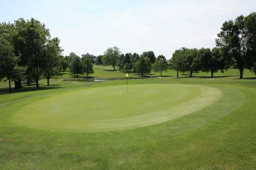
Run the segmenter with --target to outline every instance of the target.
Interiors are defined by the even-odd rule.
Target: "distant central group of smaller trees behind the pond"
[[[64,58],[61,65],[63,66],[63,70],[69,68],[70,72],[76,77],[78,77],[78,74],[86,73],[88,78],[88,74],[94,72],[93,63],[97,65],[111,65],[114,71],[118,67],[119,71],[133,71],[142,74],[142,76],[146,73],[150,73],[151,70],[160,72],[161,75],[163,71],[167,71],[167,60],[163,55],[159,55],[159,57],[156,58],[153,51],[143,52],[142,55],[136,52],[133,54],[122,54],[117,47],[108,48],[104,52],[104,55],[99,55],[94,58],[84,55],[80,58],[75,55],[74,52],[71,52],[70,55]]]

